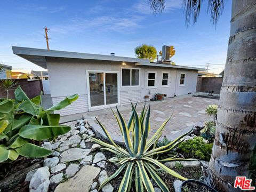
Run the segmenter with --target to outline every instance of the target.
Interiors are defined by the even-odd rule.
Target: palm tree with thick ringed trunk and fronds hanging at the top
[[[183,0],[186,24],[196,22],[202,0]],[[164,0],[149,0],[154,13]],[[213,23],[225,0],[208,0]],[[217,131],[205,182],[219,191],[238,191],[236,176],[256,171],[256,2],[233,0],[225,74],[218,105]],[[254,174],[254,175],[253,175]],[[254,182],[255,183],[255,182]]]

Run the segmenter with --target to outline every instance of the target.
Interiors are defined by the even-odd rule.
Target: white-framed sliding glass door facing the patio
[[[100,108],[118,103],[118,73],[90,71],[89,109]]]

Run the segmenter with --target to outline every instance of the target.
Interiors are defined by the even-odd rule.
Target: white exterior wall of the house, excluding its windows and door
[[[140,69],[140,86],[122,87],[122,68],[138,68]],[[173,97],[174,94],[187,94],[195,92],[197,71],[185,70],[186,86],[177,87],[175,92],[175,84],[177,84],[176,74],[180,70],[170,68],[156,68],[146,66],[135,66],[134,63],[126,62],[126,66],[122,66],[117,61],[97,61],[97,60],[81,60],[81,59],[62,59],[47,58],[47,69],[49,72],[50,91],[53,105],[69,95],[77,93],[79,99],[67,108],[59,111],[61,115],[69,115],[70,113],[84,113],[89,110],[87,97],[86,70],[95,71],[119,71],[119,104],[125,105],[132,102],[145,101],[145,95],[152,98],[154,93],[165,93],[167,97]],[[148,71],[156,71],[156,88],[147,88]],[[162,73],[169,73],[169,86],[162,87]],[[195,77],[194,77],[195,76]],[[186,81],[186,80],[185,80]],[[192,86],[192,87],[191,87]],[[150,91],[152,94],[150,94]]]

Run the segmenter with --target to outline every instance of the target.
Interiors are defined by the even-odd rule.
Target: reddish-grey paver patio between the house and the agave
[[[147,102],[147,105],[149,102]],[[192,95],[182,95],[175,98],[168,98],[164,101],[152,101],[150,125],[151,130],[149,137],[151,137],[162,125],[162,123],[170,117],[172,118],[169,123],[166,124],[163,136],[166,135],[169,139],[174,139],[180,134],[183,134],[191,129],[191,127],[199,125],[202,126],[204,121],[212,119],[205,114],[204,109],[208,105],[218,104],[218,100],[192,97]],[[137,111],[141,111],[144,103],[138,103]],[[123,115],[126,121],[128,121],[131,115],[131,106],[125,105],[118,107],[119,111]],[[114,110],[116,111],[116,110]],[[76,119],[84,118],[89,120],[89,123],[93,126],[93,129],[102,134],[101,128],[95,122],[95,116],[99,121],[105,125],[106,129],[116,141],[122,141],[121,133],[116,124],[116,120],[110,109],[102,109],[97,111],[91,111],[83,114],[74,114],[68,116],[62,116],[61,122],[69,122]]]

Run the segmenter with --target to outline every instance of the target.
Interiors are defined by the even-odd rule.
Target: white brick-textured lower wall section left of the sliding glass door
[[[52,103],[53,105],[55,105],[65,98],[66,97],[53,97]],[[77,113],[84,113],[87,111],[88,111],[87,95],[79,95],[78,99],[75,102],[73,102],[71,105],[67,106],[64,109],[55,111],[55,113],[60,114],[61,116],[65,116],[65,115],[71,115],[71,114],[77,114]]]

